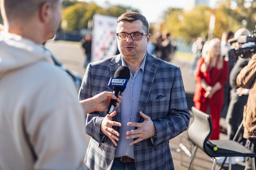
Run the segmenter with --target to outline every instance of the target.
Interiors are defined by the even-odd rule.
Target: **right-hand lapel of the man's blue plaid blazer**
[[[154,58],[152,57],[152,55],[147,53],[147,58],[146,58],[144,73],[143,73],[143,80],[142,80],[142,85],[140,90],[138,110],[136,113],[136,122],[138,122],[141,118],[140,111],[143,112],[145,108],[150,90],[152,88],[152,85],[155,79],[155,73],[157,72],[157,67],[155,67],[154,64],[155,64]]]

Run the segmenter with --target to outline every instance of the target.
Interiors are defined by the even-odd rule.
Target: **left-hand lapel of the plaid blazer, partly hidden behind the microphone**
[[[122,65],[121,54],[119,54],[115,58],[113,58],[113,60],[111,62],[113,62],[113,64],[111,64],[109,66],[109,73],[110,73],[110,78],[113,78],[118,67],[120,67]],[[120,107],[118,107],[118,108],[115,108],[114,110],[116,111],[116,116],[113,117],[113,121],[120,122],[121,109],[120,109]]]

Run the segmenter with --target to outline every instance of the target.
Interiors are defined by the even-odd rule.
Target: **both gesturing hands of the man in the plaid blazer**
[[[106,115],[106,117],[103,118],[101,122],[101,132],[107,135],[109,139],[117,146],[116,141],[119,140],[118,137],[120,136],[120,134],[113,129],[113,126],[121,127],[121,123],[112,121],[112,117],[114,117],[115,115],[116,115],[116,111]],[[142,140],[145,140],[147,138],[150,138],[156,135],[155,125],[150,119],[150,117],[148,117],[142,112],[140,112],[140,115],[141,117],[144,118],[144,122],[142,123],[128,122],[126,124],[127,126],[137,127],[136,130],[130,130],[125,133],[127,140],[137,138],[136,140],[131,142],[130,145],[133,145],[135,143],[138,143]]]

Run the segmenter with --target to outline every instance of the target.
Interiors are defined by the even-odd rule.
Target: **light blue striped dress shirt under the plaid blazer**
[[[135,122],[136,119],[146,57],[147,53],[145,54],[140,68],[135,72],[134,76],[130,72],[130,79],[126,85],[125,91],[123,92],[123,100],[120,106],[120,123],[122,126],[119,128],[120,137],[119,141],[117,142],[115,157],[127,156],[134,158],[133,145],[130,145],[133,139],[127,140],[125,133],[127,131],[134,130],[135,127],[128,127],[126,124],[128,122]],[[125,60],[123,60],[123,58],[121,58],[121,60],[122,66],[126,66]]]

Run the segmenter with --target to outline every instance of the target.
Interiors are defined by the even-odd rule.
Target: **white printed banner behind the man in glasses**
[[[95,14],[93,16],[91,62],[116,54],[116,17]]]

